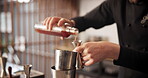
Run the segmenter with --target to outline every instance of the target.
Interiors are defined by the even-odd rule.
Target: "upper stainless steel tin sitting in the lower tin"
[[[77,52],[56,50],[55,55],[56,70],[75,69]]]

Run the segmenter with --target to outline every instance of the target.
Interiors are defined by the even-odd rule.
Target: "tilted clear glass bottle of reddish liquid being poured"
[[[69,37],[70,35],[77,35],[79,33],[77,28],[69,26],[54,26],[52,30],[49,30],[42,24],[35,24],[34,28],[39,33],[61,37]]]

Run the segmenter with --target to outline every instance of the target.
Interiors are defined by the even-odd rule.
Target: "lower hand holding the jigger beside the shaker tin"
[[[74,51],[80,52],[84,65],[89,66],[106,58],[118,59],[120,46],[107,41],[86,42]]]

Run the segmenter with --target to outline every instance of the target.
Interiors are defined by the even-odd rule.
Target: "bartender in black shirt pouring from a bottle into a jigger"
[[[115,65],[122,66],[118,78],[148,78],[148,0],[106,0],[85,16],[48,17],[43,22],[50,30],[54,24],[64,23],[80,32],[116,23],[119,45],[107,41],[86,42],[74,50],[82,53],[86,66],[111,58]]]

